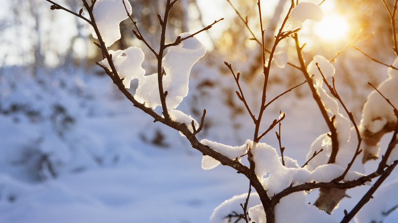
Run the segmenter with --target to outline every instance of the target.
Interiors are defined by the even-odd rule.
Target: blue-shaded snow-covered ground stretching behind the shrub
[[[23,68],[3,70],[0,222],[208,222],[220,203],[247,192],[245,177],[225,166],[203,170],[202,154],[184,137],[153,123],[120,97],[109,77],[93,73],[59,68],[30,78]],[[217,88],[208,91],[220,97]],[[227,109],[217,97],[203,105],[209,120]],[[188,95],[180,106],[188,110],[192,98]],[[285,155],[302,164],[326,126],[310,97],[286,95],[264,117],[272,120],[279,109],[287,114],[282,124]],[[221,119],[204,137],[227,141],[240,135],[231,144],[243,144],[253,126],[244,116],[237,119],[243,126],[236,131]],[[165,137],[163,147],[151,143],[156,136],[159,140],[157,134]],[[278,148],[273,134],[263,141]],[[397,178],[396,171],[392,175],[390,181]],[[341,219],[367,188],[349,190],[352,198],[344,199],[333,216]],[[312,191],[307,200],[316,197]],[[389,219],[384,222],[398,217]]]

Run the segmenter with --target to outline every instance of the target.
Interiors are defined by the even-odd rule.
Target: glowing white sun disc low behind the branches
[[[324,41],[344,39],[349,31],[349,24],[341,16],[327,16],[314,25],[314,34]]]

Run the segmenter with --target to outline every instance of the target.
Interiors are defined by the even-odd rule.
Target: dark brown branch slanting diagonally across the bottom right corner
[[[395,161],[392,165],[388,166],[387,170],[380,176],[380,178],[376,181],[376,183],[370,187],[370,189],[365,193],[362,199],[358,202],[358,204],[350,211],[350,213],[345,214],[344,218],[340,221],[340,223],[348,223],[351,219],[358,213],[358,211],[371,199],[373,198],[373,194],[380,187],[380,185],[384,182],[384,180],[390,176],[391,172],[394,170],[395,166],[398,164],[398,161]]]

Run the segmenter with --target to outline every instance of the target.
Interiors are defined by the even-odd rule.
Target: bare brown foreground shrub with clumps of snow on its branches
[[[322,19],[323,13],[319,5],[304,2],[295,6],[292,1],[289,12],[275,36],[272,50],[267,50],[264,47],[265,34],[262,23],[260,25],[262,41],[253,36],[253,39],[260,44],[263,55],[260,66],[263,70],[264,82],[261,97],[258,99],[261,103],[256,108],[258,113],[255,112],[246,98],[247,95],[244,94],[240,82],[240,72],[235,72],[233,66],[225,62],[238,87],[237,98],[244,105],[254,124],[253,140],[246,140],[245,144],[234,147],[207,139],[198,140],[196,135],[204,128],[206,110],[203,111],[200,122],[197,122],[190,115],[177,109],[188,94],[191,68],[206,51],[194,36],[210,29],[220,20],[214,21],[194,34],[183,33],[174,42],[166,43],[168,15],[177,3],[177,1],[168,0],[163,16],[158,15],[162,32],[158,49],[155,49],[141,36],[136,21],[129,15],[131,6],[126,1],[98,0],[92,1],[90,4],[86,0],[82,2],[89,12],[89,18],[83,17],[82,14],[76,15],[92,25],[93,32],[99,41],[98,45],[105,55],[105,59],[98,65],[104,69],[120,92],[134,106],[151,116],[155,122],[161,122],[185,136],[193,148],[203,153],[203,169],[212,169],[221,163],[235,169],[239,174],[243,174],[250,182],[248,193],[235,196],[214,210],[211,216],[212,222],[237,222],[239,220],[247,223],[337,222],[337,219],[330,214],[345,196],[345,190],[369,184],[373,179],[379,177],[352,211],[345,211],[339,216],[342,218],[341,222],[349,222],[398,164],[395,157],[397,152],[393,150],[398,143],[396,139],[398,111],[393,107],[396,101],[391,100],[392,104],[389,104],[386,99],[381,97],[382,94],[387,98],[394,98],[396,95],[396,91],[394,91],[398,87],[396,86],[397,81],[394,79],[396,72],[390,68],[388,70],[389,79],[379,87],[382,93],[375,92],[369,95],[363,110],[364,116],[360,131],[352,114],[337,93],[334,79],[330,78],[336,72],[334,66],[321,55],[315,55],[313,61],[308,65],[303,58],[303,47],[300,44],[298,32],[305,20],[320,21]],[[60,7],[56,5],[53,8]],[[260,1],[258,10],[261,14]],[[145,71],[141,67],[144,60],[143,51],[137,47],[130,47],[126,50],[108,50],[107,47],[120,37],[118,24],[123,18],[131,20],[135,27],[133,33],[157,58],[157,73],[145,75]],[[244,22],[247,24],[247,20]],[[305,81],[275,99],[269,100],[267,99],[267,83],[271,72],[271,62],[275,61],[280,68],[286,67],[291,58],[290,55],[288,57],[286,52],[276,52],[276,48],[281,41],[288,37],[295,40],[294,47],[297,52],[295,58],[300,66],[290,65],[303,74]],[[266,52],[270,54],[269,57]],[[398,50],[396,50],[396,54],[398,55]],[[395,63],[397,62],[394,62],[394,65]],[[133,79],[138,79],[138,87],[134,95],[128,90],[130,81]],[[276,148],[260,141],[275,126],[280,126],[286,117],[285,113],[280,113],[278,119],[264,126],[261,121],[267,106],[304,83],[308,83],[329,132],[321,134],[314,141],[307,156],[308,161],[301,166],[296,160],[284,156],[280,132],[276,133],[280,143],[279,154]],[[157,106],[161,107],[160,112],[155,110]],[[369,156],[368,154],[376,156],[378,149],[366,149],[365,147],[365,152],[361,153],[361,148],[363,148],[361,147],[361,132],[365,134],[366,146],[372,146],[374,144],[368,142],[369,137],[366,134],[379,134],[379,131],[384,129],[388,123],[389,128],[384,132],[394,130],[392,140],[380,160],[377,170],[366,174],[363,164],[358,160],[362,156]],[[372,140],[377,145],[380,137],[374,137]],[[364,158],[364,160],[366,159]],[[256,193],[251,193],[252,187],[255,188]],[[313,206],[306,202],[306,191],[317,188],[320,189],[320,196]]]

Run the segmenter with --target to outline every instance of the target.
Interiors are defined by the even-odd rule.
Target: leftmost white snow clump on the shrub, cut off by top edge
[[[131,13],[129,1],[125,1],[125,3],[128,12]],[[93,15],[107,47],[120,39],[119,23],[128,18],[122,0],[97,0],[93,8]],[[93,29],[91,33],[94,38],[97,38]]]

